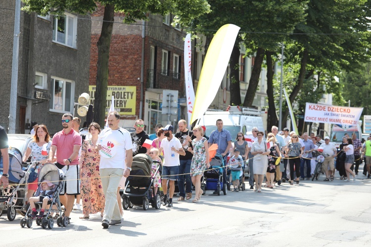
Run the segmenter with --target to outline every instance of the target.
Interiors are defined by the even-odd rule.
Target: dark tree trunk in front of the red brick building
[[[106,98],[108,86],[108,61],[109,48],[111,45],[115,5],[106,4],[104,7],[102,31],[100,33],[98,46],[98,61],[96,63],[96,88],[94,95],[94,122],[104,126],[106,112]]]

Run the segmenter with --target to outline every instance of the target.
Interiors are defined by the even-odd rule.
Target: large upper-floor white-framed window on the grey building
[[[54,17],[53,41],[76,48],[77,18],[65,13],[63,16]]]

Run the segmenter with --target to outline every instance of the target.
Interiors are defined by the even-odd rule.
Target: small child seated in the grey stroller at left
[[[40,209],[40,214],[38,217],[39,218],[44,217],[44,212],[47,206],[47,202],[53,199],[54,191],[52,191],[51,189],[53,189],[54,187],[55,185],[53,183],[50,183],[47,180],[44,180],[40,184],[40,188],[41,188],[40,195],[38,197],[31,197],[29,200],[30,207],[31,207],[31,214],[29,215],[29,217],[35,218],[38,213],[38,211],[36,210],[36,206],[35,206],[36,202],[43,202],[43,205],[42,205],[42,208]]]

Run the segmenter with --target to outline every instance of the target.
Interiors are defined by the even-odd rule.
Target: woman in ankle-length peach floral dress
[[[104,194],[99,176],[100,155],[95,151],[95,144],[100,133],[97,123],[89,125],[91,139],[85,140],[80,156],[80,189],[83,199],[83,213],[80,219],[89,219],[89,214],[104,211]]]

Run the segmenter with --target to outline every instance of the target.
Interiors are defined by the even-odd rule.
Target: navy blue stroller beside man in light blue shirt
[[[225,168],[223,156],[217,153],[215,157],[211,159],[210,166],[211,169],[204,172],[201,182],[203,195],[205,195],[206,190],[214,190],[216,194],[220,196],[222,188],[223,194],[227,195],[227,181],[223,181],[223,170]]]

